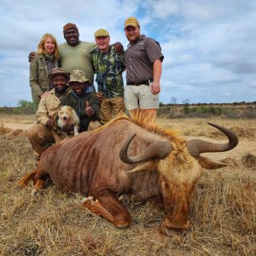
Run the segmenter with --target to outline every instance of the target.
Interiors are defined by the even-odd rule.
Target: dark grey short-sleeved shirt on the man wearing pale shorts
[[[125,50],[126,82],[153,80],[153,64],[163,60],[160,45],[144,35]]]

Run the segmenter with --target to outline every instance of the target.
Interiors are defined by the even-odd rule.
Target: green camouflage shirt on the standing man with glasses
[[[106,98],[123,97],[124,81],[122,73],[125,69],[124,55],[118,55],[114,46],[111,45],[106,53],[95,49],[92,52],[92,61],[95,73],[102,74],[106,82],[105,90],[103,86],[97,82],[98,91],[102,92]]]

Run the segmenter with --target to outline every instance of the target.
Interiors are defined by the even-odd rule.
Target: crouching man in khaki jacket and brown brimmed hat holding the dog
[[[61,98],[69,93],[67,86],[69,75],[70,73],[60,67],[54,68],[52,73],[49,73],[49,81],[52,82],[54,89],[39,102],[36,113],[39,124],[33,125],[28,130],[28,139],[38,159],[48,143],[59,143],[65,137],[64,133],[56,127],[55,119]]]

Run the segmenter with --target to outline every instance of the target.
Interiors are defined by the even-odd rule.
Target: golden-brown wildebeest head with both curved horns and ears
[[[152,143],[140,154],[128,156],[127,151],[136,134],[129,137],[120,150],[120,159],[126,164],[138,164],[131,172],[157,170],[160,175],[160,189],[166,208],[166,217],[161,224],[162,232],[172,236],[173,230],[189,228],[189,202],[195,183],[201,177],[201,167],[217,169],[227,164],[201,156],[206,152],[222,152],[235,148],[236,135],[220,125],[212,125],[224,132],[229,143],[209,143],[192,139],[159,141]]]

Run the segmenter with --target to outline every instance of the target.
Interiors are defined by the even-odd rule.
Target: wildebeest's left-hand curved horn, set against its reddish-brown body
[[[127,151],[131,141],[135,136],[136,133],[127,138],[122,148],[120,149],[119,156],[125,164],[137,164],[147,160],[152,160],[153,158],[165,159],[167,155],[172,151],[171,143],[160,141],[152,143],[141,154],[130,157],[128,156]]]

